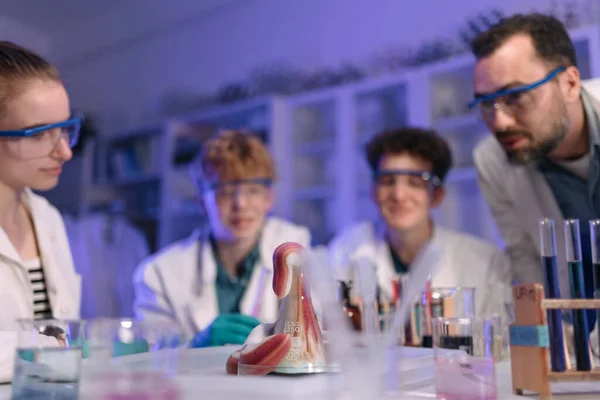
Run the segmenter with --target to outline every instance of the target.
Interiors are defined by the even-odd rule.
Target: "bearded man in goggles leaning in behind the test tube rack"
[[[556,223],[561,295],[569,297],[563,221],[581,220],[585,295],[594,296],[588,221],[600,218],[600,103],[582,87],[563,24],[501,20],[471,44],[475,98],[493,136],[475,149],[479,184],[520,282],[544,282],[538,220]],[[594,327],[595,312],[589,312]]]

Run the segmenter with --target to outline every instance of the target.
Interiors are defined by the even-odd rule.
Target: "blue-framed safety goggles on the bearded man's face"
[[[528,85],[501,89],[490,94],[476,94],[475,99],[469,102],[469,109],[478,107],[482,118],[486,120],[493,119],[500,109],[511,116],[528,111],[535,104],[531,92],[550,82],[566,69],[566,67],[555,68],[544,78]]]

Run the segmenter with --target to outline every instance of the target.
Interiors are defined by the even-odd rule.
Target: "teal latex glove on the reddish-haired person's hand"
[[[190,347],[243,344],[252,329],[258,325],[260,321],[248,315],[222,314],[215,318],[208,328],[196,334]]]

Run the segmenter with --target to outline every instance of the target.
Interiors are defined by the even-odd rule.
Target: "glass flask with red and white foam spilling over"
[[[288,242],[273,253],[273,291],[281,307],[273,335],[258,344],[245,344],[227,360],[227,372],[236,374],[238,364],[245,374],[306,374],[324,372],[325,350],[321,328],[305,286],[302,272],[304,247]],[[251,368],[256,366],[256,368]]]

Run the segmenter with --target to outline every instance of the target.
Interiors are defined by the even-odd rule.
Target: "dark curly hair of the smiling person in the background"
[[[365,146],[367,162],[373,172],[386,155],[409,154],[431,163],[431,173],[443,182],[452,167],[452,153],[435,131],[413,127],[385,130]]]

